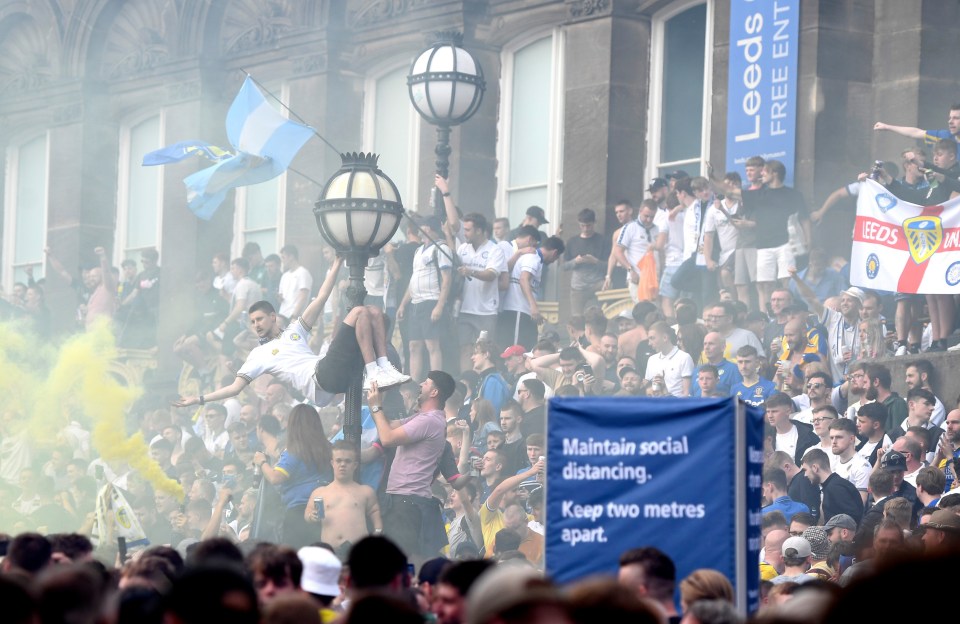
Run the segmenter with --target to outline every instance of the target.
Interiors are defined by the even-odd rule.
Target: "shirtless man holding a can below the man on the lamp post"
[[[318,487],[310,493],[303,517],[307,522],[322,522],[323,541],[333,546],[337,553],[346,554],[353,544],[367,536],[367,520],[373,525],[375,535],[383,532],[377,494],[369,485],[353,479],[357,469],[356,449],[345,440],[334,442],[333,482]],[[321,518],[314,499],[323,499],[324,516]]]

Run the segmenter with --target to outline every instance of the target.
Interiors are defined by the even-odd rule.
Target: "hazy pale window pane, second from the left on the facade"
[[[160,117],[151,117],[130,129],[130,157],[127,162],[126,249],[129,252],[157,247],[160,210],[160,167],[141,165],[143,155],[160,148]],[[136,254],[134,254],[136,255]]]

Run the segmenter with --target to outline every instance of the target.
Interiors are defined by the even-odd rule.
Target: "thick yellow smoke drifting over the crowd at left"
[[[106,461],[124,462],[154,488],[183,499],[183,488],[150,458],[142,434],[126,435],[126,411],[140,388],[121,385],[110,373],[116,357],[106,323],[70,337],[59,348],[22,328],[0,325],[0,392],[8,410],[27,416],[28,435],[39,446],[77,419],[92,427],[92,446]]]

